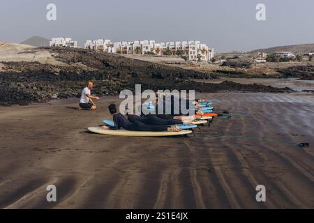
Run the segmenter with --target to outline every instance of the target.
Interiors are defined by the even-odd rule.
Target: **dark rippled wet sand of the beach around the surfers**
[[[199,96],[232,118],[188,138],[86,132],[110,118],[117,97],[96,112],[73,100],[1,107],[0,208],[314,208],[313,95]],[[46,201],[50,184],[55,203]],[[260,184],[264,203],[255,200]]]

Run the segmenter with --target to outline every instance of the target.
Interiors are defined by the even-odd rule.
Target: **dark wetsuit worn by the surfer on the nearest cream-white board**
[[[114,114],[113,115],[114,127],[110,127],[110,130],[119,130],[120,128],[124,128],[129,131],[151,131],[151,132],[161,132],[167,131],[168,125],[146,125],[144,123],[136,122],[131,123],[124,117],[122,114]]]

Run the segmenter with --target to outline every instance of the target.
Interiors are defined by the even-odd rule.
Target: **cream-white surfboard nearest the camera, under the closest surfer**
[[[123,137],[171,137],[182,134],[190,134],[190,130],[182,130],[180,132],[146,132],[146,131],[128,131],[128,130],[103,130],[102,128],[90,127],[89,132],[94,132],[97,134],[108,134],[114,136]]]

